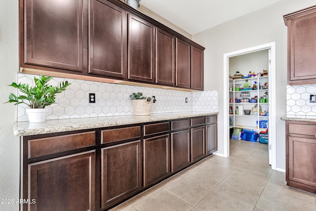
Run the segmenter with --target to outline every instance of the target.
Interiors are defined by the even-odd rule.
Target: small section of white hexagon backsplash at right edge
[[[316,94],[316,84],[286,86],[286,115],[316,116],[316,103],[310,95]]]

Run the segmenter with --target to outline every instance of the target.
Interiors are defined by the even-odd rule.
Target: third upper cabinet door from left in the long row
[[[154,25],[128,14],[128,79],[155,82]]]

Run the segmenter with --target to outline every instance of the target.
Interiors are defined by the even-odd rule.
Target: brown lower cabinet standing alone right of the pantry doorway
[[[286,182],[316,193],[316,124],[286,121]]]

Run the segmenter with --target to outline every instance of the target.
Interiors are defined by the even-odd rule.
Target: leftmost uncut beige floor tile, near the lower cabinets
[[[184,177],[177,180],[170,185],[163,186],[161,189],[176,196],[182,201],[195,206],[201,199],[203,199],[212,189],[197,182]]]

